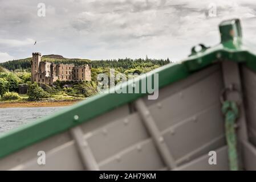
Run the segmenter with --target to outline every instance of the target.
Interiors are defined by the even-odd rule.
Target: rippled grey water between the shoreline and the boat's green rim
[[[0,133],[33,122],[36,118],[54,113],[64,107],[9,107],[0,108]]]

